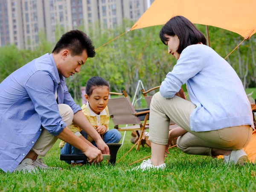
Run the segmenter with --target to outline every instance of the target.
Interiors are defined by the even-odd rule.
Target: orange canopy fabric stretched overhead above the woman
[[[130,30],[165,24],[182,15],[192,23],[215,26],[244,38],[256,32],[256,0],[154,0]]]

